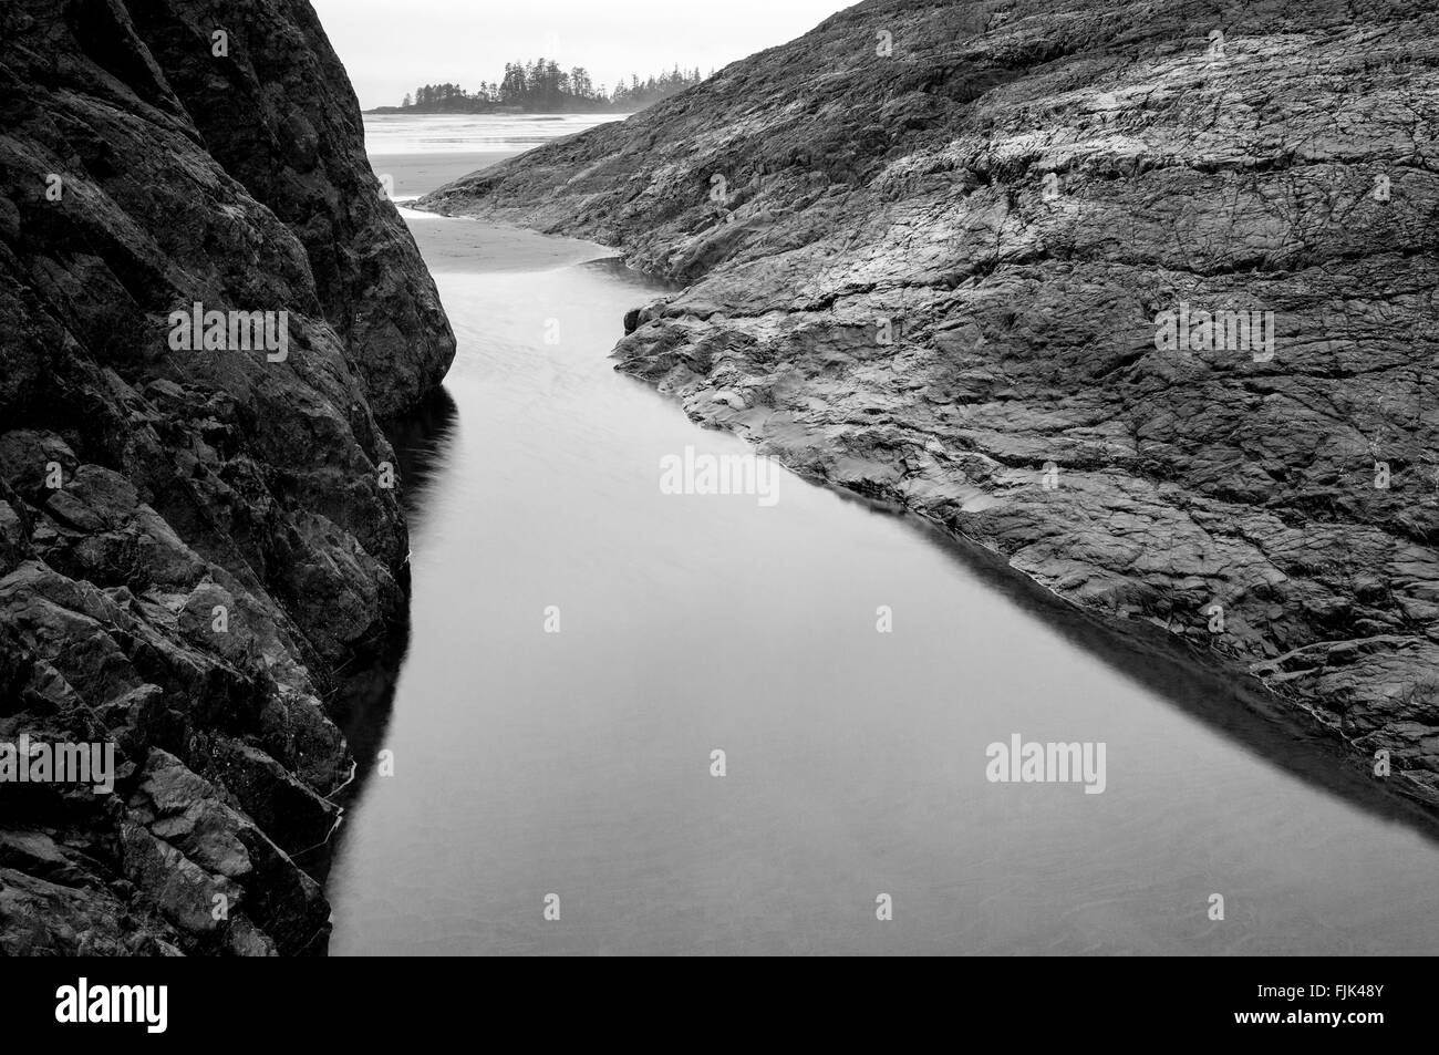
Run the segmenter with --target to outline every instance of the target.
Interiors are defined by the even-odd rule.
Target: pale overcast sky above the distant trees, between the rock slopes
[[[676,63],[709,73],[856,0],[311,0],[364,109],[422,83],[473,91],[505,63],[584,66],[607,89]]]

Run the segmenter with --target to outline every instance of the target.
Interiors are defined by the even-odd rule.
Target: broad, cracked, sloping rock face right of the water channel
[[[871,0],[419,204],[686,284],[619,368],[1436,803],[1436,66],[1422,0]]]

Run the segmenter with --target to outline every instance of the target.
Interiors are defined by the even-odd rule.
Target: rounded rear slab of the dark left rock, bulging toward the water
[[[131,16],[212,155],[304,243],[370,406],[381,416],[414,406],[445,377],[455,341],[404,222],[376,207],[360,108],[319,19],[308,4],[216,16],[178,0],[134,4]],[[217,29],[232,60],[196,62]]]

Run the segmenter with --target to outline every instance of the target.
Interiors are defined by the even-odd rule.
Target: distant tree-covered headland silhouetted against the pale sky
[[[711,71],[712,72],[712,71]],[[584,66],[561,69],[554,59],[507,62],[499,81],[481,81],[468,91],[456,83],[420,85],[399,107],[378,107],[371,114],[528,114],[633,112],[704,81],[699,68],[675,66],[668,73],[616,81],[612,89],[597,85]]]

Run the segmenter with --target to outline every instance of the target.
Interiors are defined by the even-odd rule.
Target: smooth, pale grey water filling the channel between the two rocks
[[[662,494],[747,448],[612,368],[642,279],[448,265],[332,953],[1439,951],[1439,843],[1327,751],[908,520]],[[1102,741],[1105,790],[987,782],[1016,733]]]

